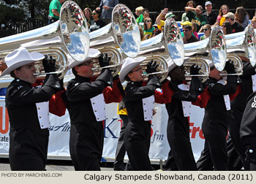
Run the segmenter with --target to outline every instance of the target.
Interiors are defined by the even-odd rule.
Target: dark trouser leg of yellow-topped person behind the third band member
[[[116,160],[114,162],[114,170],[124,170],[124,156],[127,150],[124,147],[124,132],[128,124],[127,115],[119,115],[122,120],[120,135],[116,147]]]

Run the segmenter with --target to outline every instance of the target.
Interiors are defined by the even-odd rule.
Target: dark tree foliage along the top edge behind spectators
[[[6,15],[4,13],[7,13],[5,10],[4,12],[1,11],[1,18],[2,21],[3,18],[11,18],[20,20],[20,9],[23,9],[23,12],[26,12],[27,18],[47,18],[48,16],[48,9],[49,4],[51,0],[6,0],[5,2],[9,5],[16,4],[18,5],[19,9],[18,13],[15,11],[12,11],[12,18],[9,15]],[[99,6],[100,0],[73,0],[75,1],[81,9],[84,9],[86,7],[90,7],[91,9],[95,9]],[[200,4],[204,7],[204,3],[206,0],[197,0],[196,3]],[[222,6],[222,4],[227,4],[230,9],[236,9],[236,7],[243,6],[246,9],[251,9],[252,7],[256,7],[256,0],[214,0],[211,1],[213,3],[213,9],[219,9],[219,7]],[[170,11],[184,11],[184,7],[187,4],[187,1],[176,1],[176,0],[157,0],[157,1],[148,1],[148,0],[140,0],[140,1],[134,1],[134,0],[119,0],[119,3],[127,5],[129,9],[132,10],[132,12],[135,12],[136,7],[143,6],[144,8],[148,8],[150,12],[159,12],[161,9],[165,8],[165,4],[167,4],[167,8],[170,9]],[[1,8],[3,8],[1,6]],[[1,10],[1,9],[0,9]],[[7,13],[8,14],[8,13]],[[21,16],[22,17],[22,16]]]

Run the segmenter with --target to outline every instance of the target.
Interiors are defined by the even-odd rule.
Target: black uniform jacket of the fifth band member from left
[[[227,84],[222,85],[217,83],[218,81],[214,78],[209,78],[206,80],[206,85],[208,86],[208,92],[211,95],[211,99],[208,100],[205,111],[205,119],[209,120],[228,120],[229,111],[227,111],[225,106],[225,101],[223,95],[228,95],[236,93],[237,80],[236,76],[227,76]],[[203,95],[203,93],[202,93]]]

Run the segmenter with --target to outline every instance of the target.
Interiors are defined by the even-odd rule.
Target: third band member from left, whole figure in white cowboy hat
[[[127,108],[128,124],[124,132],[124,146],[127,150],[132,170],[152,170],[148,151],[151,137],[151,119],[153,116],[154,101],[158,102],[160,95],[156,88],[161,84],[156,75],[148,76],[147,83],[143,83],[140,64],[145,57],[125,58],[121,67],[119,78],[121,83],[127,80],[124,104]],[[146,72],[156,72],[158,64],[148,62]],[[160,98],[160,97],[159,97]],[[159,102],[163,99],[159,99]],[[126,167],[126,170],[128,168]]]

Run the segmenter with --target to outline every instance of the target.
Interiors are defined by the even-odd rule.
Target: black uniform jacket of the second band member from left
[[[110,71],[105,69],[94,82],[90,82],[88,77],[79,75],[69,81],[66,94],[71,123],[87,123],[95,129],[102,129],[102,126],[99,126],[102,122],[96,120],[90,99],[101,94],[107,85],[112,83],[112,80],[113,77]],[[121,99],[118,101],[121,101]],[[116,100],[116,102],[118,101]]]

